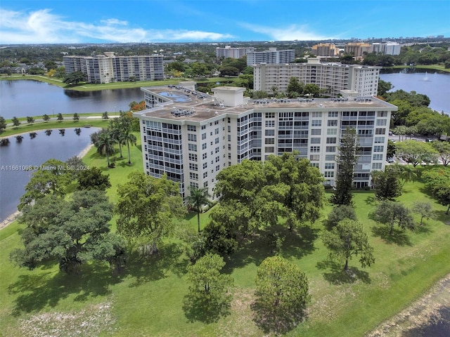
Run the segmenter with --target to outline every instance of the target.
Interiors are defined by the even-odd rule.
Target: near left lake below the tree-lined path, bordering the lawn
[[[66,161],[76,156],[91,143],[90,135],[96,131],[98,128],[81,128],[79,136],[75,128],[65,128],[64,136],[58,129],[53,129],[50,136],[46,131],[37,131],[33,139],[24,133],[21,143],[9,136],[9,145],[0,146],[0,222],[17,211],[33,172],[27,167],[39,166],[51,158]]]

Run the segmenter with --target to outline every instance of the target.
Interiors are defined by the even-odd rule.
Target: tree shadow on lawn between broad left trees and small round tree
[[[181,277],[186,273],[188,261],[181,260],[180,256],[181,251],[176,244],[162,246],[156,254],[132,251],[127,258],[125,271],[127,275],[134,277],[130,287],[164,279],[168,271]]]

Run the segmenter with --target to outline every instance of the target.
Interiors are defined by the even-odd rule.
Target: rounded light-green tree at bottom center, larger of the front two
[[[281,256],[266,258],[255,283],[255,319],[265,331],[285,333],[302,321],[311,295],[300,267]]]

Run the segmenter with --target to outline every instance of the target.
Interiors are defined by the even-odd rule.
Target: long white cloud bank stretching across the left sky
[[[49,9],[30,13],[0,8],[0,44],[65,44],[138,41],[221,41],[230,34],[186,29],[142,29],[110,18],[100,23],[72,22]]]

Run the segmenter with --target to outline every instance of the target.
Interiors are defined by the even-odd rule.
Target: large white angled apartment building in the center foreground
[[[189,87],[189,88],[188,88]],[[244,159],[297,151],[335,185],[342,131],[356,128],[359,159],[355,187],[370,186],[370,173],[386,162],[390,116],[397,107],[373,97],[344,91],[339,99],[249,100],[243,88],[218,87],[214,95],[188,87],[141,88],[146,110],[140,119],[143,170],[150,176],[214,194],[217,174]]]

